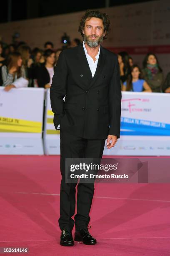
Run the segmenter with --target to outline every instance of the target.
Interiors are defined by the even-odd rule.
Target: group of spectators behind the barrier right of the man
[[[170,92],[170,72],[164,79],[157,56],[150,52],[143,60],[143,68],[133,63],[127,52],[118,53],[122,91]]]

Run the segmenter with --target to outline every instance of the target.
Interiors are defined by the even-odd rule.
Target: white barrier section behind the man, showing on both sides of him
[[[60,131],[55,131],[50,94],[46,95],[45,154],[60,154]],[[170,156],[170,95],[122,92],[121,131],[114,148],[103,155]]]

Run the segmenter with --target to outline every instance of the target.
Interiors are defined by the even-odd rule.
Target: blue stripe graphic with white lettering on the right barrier
[[[122,117],[120,135],[170,136],[170,124]]]

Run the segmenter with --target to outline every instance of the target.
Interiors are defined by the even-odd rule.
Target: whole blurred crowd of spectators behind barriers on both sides
[[[78,44],[80,40],[75,38],[69,47]],[[17,45],[0,42],[0,86],[5,86],[5,91],[20,87],[50,88],[57,59],[64,49],[54,50],[50,41],[44,44],[44,50],[31,50],[25,42]],[[170,92],[170,72],[164,79],[154,53],[145,56],[142,69],[133,63],[127,52],[119,52],[117,56],[122,91]]]

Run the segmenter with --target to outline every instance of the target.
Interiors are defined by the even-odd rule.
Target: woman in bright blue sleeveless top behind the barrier
[[[138,65],[131,67],[131,73],[126,82],[123,83],[122,91],[128,92],[152,92],[147,82],[141,79],[141,71]]]

